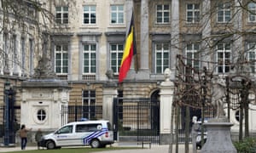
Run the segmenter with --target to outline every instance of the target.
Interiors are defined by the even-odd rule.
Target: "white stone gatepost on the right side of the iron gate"
[[[169,79],[160,84],[160,144],[171,142],[171,115],[174,83]]]

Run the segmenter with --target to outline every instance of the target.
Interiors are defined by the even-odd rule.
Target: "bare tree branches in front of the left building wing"
[[[55,6],[74,6],[75,3],[73,0],[1,0],[0,33],[3,44],[0,47],[0,58],[4,59],[0,63],[0,69],[4,70],[1,73],[19,70],[17,73],[29,75],[42,54],[50,55],[48,50],[51,36],[67,28],[56,17]],[[74,14],[76,9],[73,10]],[[67,21],[68,18],[67,14]]]

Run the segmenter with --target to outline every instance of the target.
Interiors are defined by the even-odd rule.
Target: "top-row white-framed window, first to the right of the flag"
[[[168,4],[156,5],[156,23],[167,24],[170,22],[170,6]]]

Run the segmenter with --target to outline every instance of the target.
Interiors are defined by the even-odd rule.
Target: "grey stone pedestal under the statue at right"
[[[201,153],[237,153],[230,138],[230,122],[207,122],[207,142]]]

